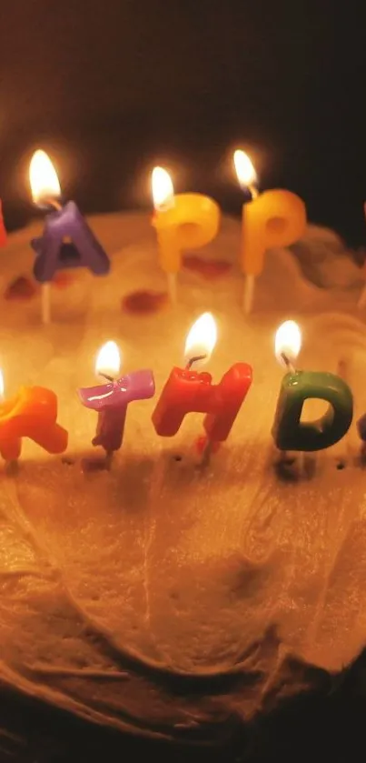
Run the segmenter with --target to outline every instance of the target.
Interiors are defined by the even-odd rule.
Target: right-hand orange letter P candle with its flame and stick
[[[302,199],[291,191],[274,189],[259,195],[256,172],[249,157],[237,150],[233,158],[240,185],[252,193],[252,201],[242,206],[243,307],[248,314],[252,311],[255,277],[262,273],[265,251],[274,246],[290,246],[302,236],[306,208]]]

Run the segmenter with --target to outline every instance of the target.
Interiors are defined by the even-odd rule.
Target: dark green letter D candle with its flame
[[[283,377],[272,427],[276,446],[283,451],[315,451],[331,447],[348,432],[353,417],[353,397],[340,376],[318,371],[297,371],[293,363],[302,345],[299,326],[286,321],[275,337],[275,355],[288,373]],[[325,400],[330,405],[317,421],[302,421],[302,407],[308,399]]]

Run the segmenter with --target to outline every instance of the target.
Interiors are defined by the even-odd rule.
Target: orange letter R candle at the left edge
[[[20,387],[18,394],[4,399],[4,377],[0,371],[0,453],[14,461],[22,451],[22,438],[29,437],[48,453],[63,453],[68,434],[57,424],[57,397],[45,387]]]

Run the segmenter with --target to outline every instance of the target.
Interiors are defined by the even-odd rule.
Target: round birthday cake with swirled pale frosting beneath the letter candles
[[[292,251],[268,253],[244,316],[240,226],[224,219],[210,246],[184,258],[172,306],[147,216],[96,216],[91,226],[111,271],[54,278],[47,326],[29,246],[40,226],[9,236],[1,252],[5,396],[22,385],[53,390],[69,441],[52,456],[25,440],[17,468],[1,467],[0,759],[183,760],[198,750],[200,760],[293,760],[289,740],[298,745],[300,734],[314,758],[314,740],[330,728],[340,746],[337,721],[351,711],[357,739],[361,270],[337,236],[310,227]],[[203,416],[158,437],[152,415],[205,311],[218,326],[207,371],[220,381],[246,363],[253,381],[203,468]],[[288,318],[302,328],[299,366],[336,373],[342,361],[354,419],[336,445],[295,454],[282,471],[271,434],[283,376],[273,337]],[[109,339],[125,373],[152,369],[156,394],[128,407],[107,469],[95,467],[97,414],[77,390],[95,385],[94,358]]]

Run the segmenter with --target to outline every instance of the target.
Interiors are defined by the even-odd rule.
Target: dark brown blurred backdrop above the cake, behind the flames
[[[365,26],[331,0],[0,3],[0,196],[34,214],[29,157],[47,150],[86,212],[148,208],[154,163],[177,190],[239,214],[241,144],[262,189],[299,193],[315,222],[365,239]],[[361,6],[361,4],[360,4]]]

